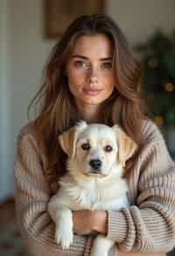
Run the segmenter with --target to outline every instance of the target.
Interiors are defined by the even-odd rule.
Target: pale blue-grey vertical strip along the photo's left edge
[[[0,200],[13,188],[11,163],[11,18],[8,2],[0,0]],[[7,187],[10,181],[10,186]]]

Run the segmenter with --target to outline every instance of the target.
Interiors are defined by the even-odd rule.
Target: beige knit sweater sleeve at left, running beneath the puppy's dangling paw
[[[74,235],[68,250],[62,250],[54,242],[54,225],[47,212],[51,191],[45,181],[36,139],[23,130],[18,137],[14,174],[16,212],[25,245],[35,256],[88,256],[92,238]]]

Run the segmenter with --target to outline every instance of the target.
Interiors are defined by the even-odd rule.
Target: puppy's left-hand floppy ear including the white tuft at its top
[[[88,124],[86,124],[84,121],[81,121],[77,125],[71,127],[66,132],[63,132],[61,135],[59,135],[59,144],[62,147],[63,151],[71,158],[73,159],[76,151],[76,142],[78,139],[78,134],[87,127]]]

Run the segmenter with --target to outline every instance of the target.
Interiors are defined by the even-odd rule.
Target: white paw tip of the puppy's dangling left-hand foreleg
[[[57,228],[55,231],[55,241],[60,244],[63,249],[68,249],[73,243],[73,231],[68,228]]]

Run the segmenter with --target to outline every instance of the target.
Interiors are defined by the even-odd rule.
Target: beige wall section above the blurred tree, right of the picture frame
[[[108,13],[123,28],[133,45],[144,41],[157,28],[175,28],[174,0],[107,0]]]

